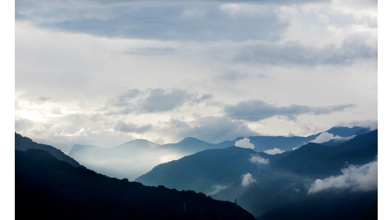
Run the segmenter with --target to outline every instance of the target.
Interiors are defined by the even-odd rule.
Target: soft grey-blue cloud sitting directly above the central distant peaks
[[[219,143],[234,140],[238,136],[256,136],[259,133],[252,131],[241,121],[232,121],[225,117],[200,117],[191,122],[181,119],[171,119],[162,130],[165,135],[175,136],[177,139],[195,137],[209,143]]]

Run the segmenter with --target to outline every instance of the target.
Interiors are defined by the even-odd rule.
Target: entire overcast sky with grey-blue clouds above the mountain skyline
[[[15,1],[15,131],[68,153],[376,128],[377,62],[377,1]]]

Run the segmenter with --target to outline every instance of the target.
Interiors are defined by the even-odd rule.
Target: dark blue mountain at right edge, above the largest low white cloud
[[[308,143],[273,164],[273,168],[326,178],[346,164],[362,165],[378,155],[378,130],[360,134],[338,146]]]

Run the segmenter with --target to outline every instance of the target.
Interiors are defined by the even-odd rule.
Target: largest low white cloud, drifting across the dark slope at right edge
[[[317,179],[311,184],[308,194],[314,194],[327,189],[350,189],[352,191],[377,190],[377,160],[362,166],[350,165],[342,169],[340,176]]]

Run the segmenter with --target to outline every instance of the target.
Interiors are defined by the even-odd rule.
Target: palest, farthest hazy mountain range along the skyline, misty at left
[[[331,135],[345,136],[352,135],[360,129],[360,127],[334,127],[328,130],[328,132],[331,132]],[[293,148],[298,148],[313,141],[320,134],[321,133],[318,133],[308,137],[250,136],[248,139],[250,140],[250,143],[254,145],[254,150],[256,152],[274,148],[291,151]],[[244,137],[238,137],[234,141],[211,144],[193,137],[186,137],[179,143],[164,145],[158,145],[147,140],[138,139],[112,148],[75,145],[68,155],[96,172],[111,177],[129,178],[133,180],[150,171],[160,163],[179,159],[183,156],[207,149],[228,148],[236,145],[236,142],[242,139],[244,139]],[[339,143],[342,142],[344,141],[339,141]]]

